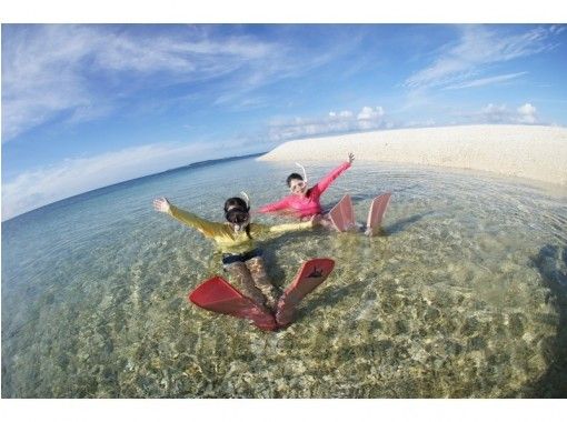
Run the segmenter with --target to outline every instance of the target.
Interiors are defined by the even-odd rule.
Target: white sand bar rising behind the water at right
[[[391,161],[491,171],[567,185],[567,129],[459,125],[381,130],[285,142],[265,161]]]

